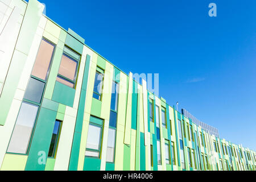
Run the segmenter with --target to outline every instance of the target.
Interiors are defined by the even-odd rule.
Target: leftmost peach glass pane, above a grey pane
[[[46,80],[54,48],[55,46],[42,40],[31,75]]]

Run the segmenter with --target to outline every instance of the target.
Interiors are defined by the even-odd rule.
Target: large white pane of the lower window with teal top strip
[[[101,139],[101,127],[89,125],[86,148],[99,150]]]

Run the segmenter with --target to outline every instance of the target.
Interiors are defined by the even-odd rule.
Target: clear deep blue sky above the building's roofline
[[[168,104],[256,151],[255,0],[39,1],[122,71],[159,73]]]

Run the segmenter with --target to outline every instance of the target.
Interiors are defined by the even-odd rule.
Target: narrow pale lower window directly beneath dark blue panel
[[[106,162],[114,162],[115,153],[115,129],[109,128]]]

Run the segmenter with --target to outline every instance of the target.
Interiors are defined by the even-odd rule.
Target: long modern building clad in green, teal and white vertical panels
[[[43,10],[0,0],[2,171],[256,169]]]

